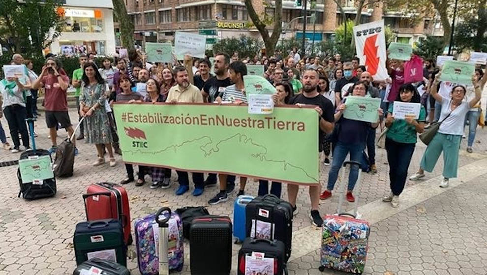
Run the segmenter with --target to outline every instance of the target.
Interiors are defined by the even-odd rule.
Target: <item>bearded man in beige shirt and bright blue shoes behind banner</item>
[[[173,70],[173,75],[177,85],[169,89],[166,102],[175,103],[203,103],[203,96],[200,90],[189,83],[188,72],[185,67],[177,66]],[[188,173],[178,171],[179,188],[176,190],[176,195],[180,196],[189,190]],[[193,173],[194,191],[193,196],[197,197],[203,194],[205,185],[203,182],[203,173]]]

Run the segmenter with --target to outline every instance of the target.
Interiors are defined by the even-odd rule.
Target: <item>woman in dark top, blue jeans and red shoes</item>
[[[352,86],[352,95],[365,96],[367,93],[367,87],[364,82],[357,82]],[[335,149],[333,151],[333,160],[330,172],[328,174],[328,186],[327,189],[320,195],[321,200],[326,200],[332,196],[332,190],[335,187],[336,180],[338,178],[338,172],[340,171],[346,156],[350,153],[350,160],[361,162],[362,152],[365,148],[365,140],[368,133],[368,127],[376,128],[379,125],[379,120],[374,123],[356,121],[344,118],[343,112],[345,111],[346,98],[344,102],[341,102],[336,109],[335,123],[339,123],[339,130],[336,133]],[[382,116],[382,109],[377,110],[379,117]],[[359,176],[359,166],[352,165],[350,174],[348,175],[348,189],[346,198],[349,202],[354,202],[355,197],[352,194],[355,183]]]

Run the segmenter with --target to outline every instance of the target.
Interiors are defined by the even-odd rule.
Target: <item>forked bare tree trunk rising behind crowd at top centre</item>
[[[274,17],[272,19],[265,18],[265,12],[262,15],[264,19],[261,20],[257,12],[255,12],[252,0],[245,0],[245,7],[247,8],[248,16],[252,20],[255,28],[260,32],[262,40],[266,46],[266,55],[272,56],[274,54],[275,45],[279,40],[279,35],[282,31],[282,0],[275,0],[274,3]],[[269,36],[267,25],[274,24],[272,35]]]

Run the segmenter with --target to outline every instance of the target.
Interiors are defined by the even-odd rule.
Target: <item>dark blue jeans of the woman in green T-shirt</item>
[[[399,143],[386,137],[387,161],[391,192],[398,196],[404,190],[407,170],[413,157],[415,143]]]

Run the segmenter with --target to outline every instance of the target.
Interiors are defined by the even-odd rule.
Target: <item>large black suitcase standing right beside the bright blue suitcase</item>
[[[291,256],[293,207],[272,194],[256,197],[245,207],[245,232],[245,237],[283,242],[287,262]]]

